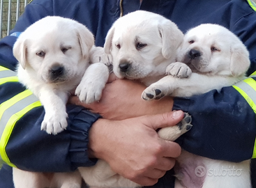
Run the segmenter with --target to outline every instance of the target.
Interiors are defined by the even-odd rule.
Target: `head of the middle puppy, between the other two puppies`
[[[117,77],[142,79],[165,73],[174,62],[183,33],[161,15],[138,10],[114,22],[105,40]]]

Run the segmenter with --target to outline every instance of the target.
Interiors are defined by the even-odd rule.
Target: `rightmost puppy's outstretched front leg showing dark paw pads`
[[[190,97],[206,93],[213,89],[220,90],[225,86],[232,86],[243,79],[242,77],[225,77],[222,75],[202,75],[193,72],[188,79],[172,76],[163,77],[147,87],[143,93],[144,100],[157,100],[166,95],[173,97]]]

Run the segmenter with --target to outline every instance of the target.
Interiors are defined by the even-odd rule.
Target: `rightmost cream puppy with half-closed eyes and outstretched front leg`
[[[165,95],[189,97],[213,89],[220,90],[245,79],[250,65],[248,50],[241,40],[228,29],[216,24],[202,24],[188,31],[179,48],[177,60],[178,63],[167,67],[167,74],[170,68],[176,67],[176,70],[180,70],[180,75],[186,75],[191,69],[190,77],[179,79],[171,75],[166,76],[143,91],[144,100],[159,99]],[[170,132],[172,130],[165,128],[160,130],[159,134],[162,138],[170,140]],[[224,162],[199,157],[183,150],[178,162],[175,187],[251,187],[250,160],[240,163]],[[199,176],[200,178],[195,174],[197,166],[201,166],[199,171],[205,173]],[[209,171],[232,167],[240,169],[241,174],[212,175]]]

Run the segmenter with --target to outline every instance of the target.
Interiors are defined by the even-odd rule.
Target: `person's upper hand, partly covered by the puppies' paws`
[[[95,113],[100,113],[103,118],[112,120],[172,111],[171,97],[153,101],[142,100],[141,95],[145,88],[146,86],[137,81],[116,79],[112,75],[99,102],[85,104],[75,96],[70,97],[69,102],[91,109]]]

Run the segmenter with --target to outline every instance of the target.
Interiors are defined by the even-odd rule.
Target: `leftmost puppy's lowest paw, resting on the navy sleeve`
[[[41,130],[45,130],[48,134],[58,134],[66,130],[68,122],[66,120],[68,114],[66,113],[45,113],[45,118],[41,124]]]

